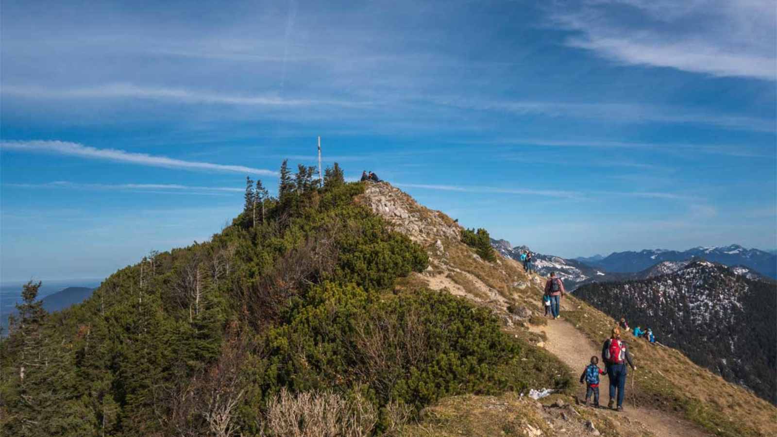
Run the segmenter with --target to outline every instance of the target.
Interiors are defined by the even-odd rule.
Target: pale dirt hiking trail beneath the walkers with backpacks
[[[547,340],[545,341],[545,349],[556,355],[561,361],[569,365],[573,370],[573,377],[577,379],[583,369],[590,364],[591,356],[601,356],[601,346],[595,346],[588,338],[577,330],[572,323],[563,320],[563,307],[561,318],[559,320],[548,320],[548,324],[545,326],[531,326],[530,330],[534,332],[545,332]],[[600,358],[601,359],[601,358]],[[639,360],[635,358],[636,372],[639,373]],[[600,365],[601,367],[601,365]],[[692,425],[689,421],[675,418],[671,414],[664,413],[652,408],[635,407],[632,404],[631,390],[632,378],[634,372],[629,369],[629,379],[626,380],[625,400],[623,402],[624,411],[618,413],[616,411],[600,409],[599,411],[607,411],[608,414],[613,414],[614,418],[621,418],[625,416],[628,420],[639,421],[657,435],[657,437],[704,437],[710,434],[706,434]],[[606,407],[609,400],[609,383],[608,377],[601,377],[601,384],[599,385],[599,404]],[[577,380],[573,381],[577,384]],[[580,385],[580,400],[585,398],[585,388]],[[627,420],[627,421],[628,421]]]

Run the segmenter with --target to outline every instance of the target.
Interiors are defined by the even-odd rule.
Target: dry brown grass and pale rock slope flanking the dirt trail
[[[545,322],[540,313],[542,309],[540,298],[545,278],[536,274],[526,274],[514,260],[497,257],[495,263],[483,261],[471,248],[460,241],[462,229],[458,223],[442,212],[432,211],[417,204],[409,195],[390,184],[368,184],[364,194],[357,201],[368,205],[378,215],[382,215],[395,230],[405,233],[420,243],[429,253],[430,267],[427,271],[422,274],[412,274],[402,280],[399,284],[401,288],[428,287],[461,295],[476,304],[492,309],[503,320],[505,330],[510,334],[515,334],[531,343],[542,344],[542,334],[532,333],[528,327],[530,322]],[[572,308],[573,311],[566,311],[563,317],[570,320],[593,344],[601,344],[601,341],[607,337],[608,331],[615,325],[615,320],[579,299],[567,298],[565,306]],[[508,308],[510,308],[509,311]],[[777,435],[777,408],[772,404],[700,368],[679,351],[651,346],[643,341],[631,341],[631,343],[639,367],[636,390],[634,390],[636,393],[633,393],[636,395],[637,405],[674,414],[678,418],[686,418],[705,432],[715,435],[732,437],[734,435]],[[566,372],[570,371],[566,365],[559,365],[562,365]],[[575,375],[581,371],[582,369],[573,369]],[[603,386],[602,389],[602,397],[606,400],[606,387]],[[629,397],[631,395],[632,393],[629,393]],[[462,399],[466,399],[466,402]],[[500,433],[510,435],[511,427],[515,426],[515,423],[510,421],[512,419],[507,418],[513,414],[510,408],[523,408],[523,411],[530,411],[530,409],[527,409],[526,405],[515,404],[512,398],[509,401],[493,399],[495,398],[457,397],[444,400],[428,409],[429,414],[425,414],[422,423],[418,425],[421,428],[414,429],[418,435],[451,433],[455,435],[456,432],[465,432],[465,430],[451,424],[481,419],[485,422],[501,423],[491,417],[491,414],[492,410],[498,411],[502,407],[483,407],[485,408],[483,410],[476,406],[507,402],[512,406],[503,408],[506,416],[502,421],[510,423],[505,425],[506,428]],[[567,399],[573,398],[567,396]],[[531,402],[531,400],[524,401]],[[461,407],[462,402],[471,404],[472,408]],[[548,400],[543,400],[543,403],[547,404]],[[437,418],[432,414],[436,411],[435,408]],[[545,424],[552,423],[547,417],[547,407],[543,408],[545,411],[534,411],[531,414],[527,412],[525,424],[535,423],[532,418],[543,417],[543,414],[545,414]],[[651,434],[649,430],[640,428],[639,424],[624,423],[624,419],[618,418],[615,414],[605,414],[602,411],[579,407],[574,409],[587,415],[589,418],[585,420],[592,420],[597,428],[616,430],[611,433],[612,435]],[[478,416],[477,411],[487,411],[488,414]],[[578,417],[574,414],[567,415]],[[444,420],[439,418],[443,416]],[[578,421],[580,420],[583,420],[582,416]],[[448,425],[445,425],[446,423]],[[537,427],[532,425],[532,428]],[[431,432],[434,429],[437,431]],[[557,428],[548,430],[539,427],[538,429],[544,432],[544,435],[559,433],[570,435],[566,431],[560,432]],[[487,434],[472,433],[472,435]],[[531,435],[531,431],[524,426],[514,435]]]

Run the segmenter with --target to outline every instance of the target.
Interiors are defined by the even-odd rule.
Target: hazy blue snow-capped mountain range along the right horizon
[[[615,252],[598,261],[589,261],[594,267],[605,271],[633,273],[643,271],[662,261],[684,261],[704,259],[727,266],[741,265],[750,267],[769,278],[777,278],[777,255],[765,250],[746,249],[738,244],[723,247],[694,247],[678,250],[640,250],[639,252]]]

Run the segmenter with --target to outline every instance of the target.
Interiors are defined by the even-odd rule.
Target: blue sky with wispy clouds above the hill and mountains
[[[771,1],[161,5],[3,0],[3,281],[207,239],[317,135],[542,253],[777,246]]]

